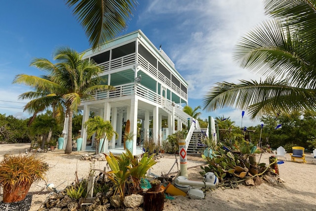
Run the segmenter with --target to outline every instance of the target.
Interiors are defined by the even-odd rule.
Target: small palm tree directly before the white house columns
[[[113,129],[110,121],[104,121],[100,116],[96,116],[94,118],[88,119],[84,123],[84,127],[87,130],[87,136],[91,137],[95,133],[95,141],[96,141],[96,153],[102,150],[99,148],[100,139],[103,138],[104,140],[111,140],[115,135],[115,138],[118,138],[118,133]]]

